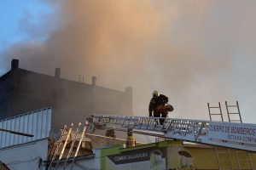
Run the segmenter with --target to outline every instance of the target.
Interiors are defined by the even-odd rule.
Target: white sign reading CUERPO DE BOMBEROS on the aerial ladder
[[[244,144],[256,144],[256,126],[241,123],[211,122],[208,137]]]

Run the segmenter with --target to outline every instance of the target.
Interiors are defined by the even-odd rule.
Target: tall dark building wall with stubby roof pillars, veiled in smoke
[[[56,128],[84,122],[90,114],[132,115],[131,88],[121,92],[96,86],[96,77],[88,84],[59,76],[16,65],[0,77],[0,120],[46,107],[53,108],[52,125]]]

